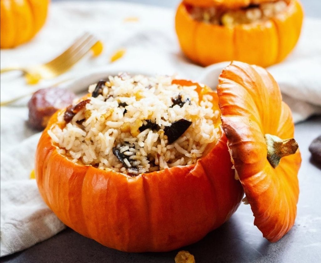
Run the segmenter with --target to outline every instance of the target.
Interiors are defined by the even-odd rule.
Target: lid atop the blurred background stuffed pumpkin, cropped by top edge
[[[276,2],[278,0],[184,0],[183,2],[190,5],[209,7],[225,6],[228,8],[245,7],[251,4],[262,4],[265,2]]]

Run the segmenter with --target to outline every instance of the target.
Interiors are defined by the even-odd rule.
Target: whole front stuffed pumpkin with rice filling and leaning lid
[[[217,90],[126,74],[91,85],[39,140],[42,198],[105,246],[169,251],[228,220],[245,190],[255,224],[277,241],[294,223],[299,195],[291,111],[257,66],[233,62]]]

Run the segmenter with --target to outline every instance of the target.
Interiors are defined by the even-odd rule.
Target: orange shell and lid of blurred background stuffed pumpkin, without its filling
[[[299,0],[288,1],[286,9],[269,20],[235,26],[196,21],[188,12],[190,4],[239,8],[248,6],[248,2],[250,1],[182,2],[176,13],[175,28],[185,55],[203,66],[239,60],[266,67],[282,61],[299,39],[303,20]],[[257,2],[251,1],[249,4]]]

